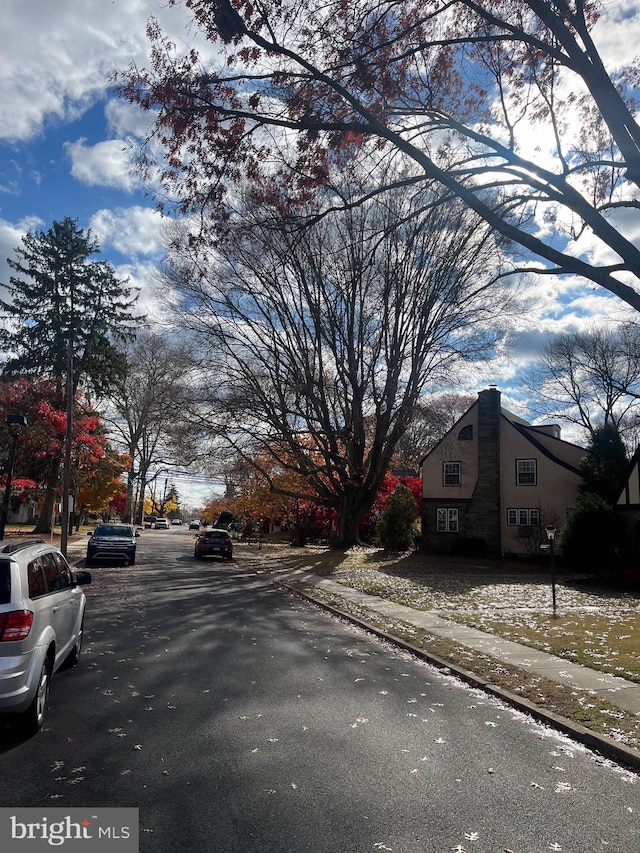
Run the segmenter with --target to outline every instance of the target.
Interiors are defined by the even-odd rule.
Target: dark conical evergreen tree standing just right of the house
[[[581,491],[614,504],[624,483],[627,464],[627,452],[617,427],[610,422],[598,427],[580,466],[584,479]]]

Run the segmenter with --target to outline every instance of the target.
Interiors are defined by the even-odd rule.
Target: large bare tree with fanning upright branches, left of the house
[[[429,199],[430,201],[433,199]],[[388,195],[300,232],[250,205],[218,261],[181,244],[182,322],[215,381],[203,422],[259,465],[295,470],[294,497],[331,507],[338,542],[357,541],[428,380],[451,381],[495,342],[500,252],[460,204]],[[176,242],[176,247],[178,242]],[[506,313],[502,314],[505,317]],[[274,465],[275,463],[275,465]]]

